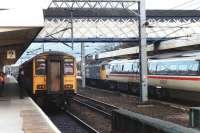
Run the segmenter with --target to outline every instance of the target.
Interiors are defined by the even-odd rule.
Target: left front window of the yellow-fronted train
[[[46,75],[46,61],[45,59],[36,59],[35,74]]]

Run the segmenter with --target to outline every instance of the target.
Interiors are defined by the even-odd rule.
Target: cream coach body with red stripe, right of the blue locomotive
[[[118,90],[139,88],[138,60],[114,60],[104,64],[104,67],[100,64],[99,69],[102,68],[106,68],[104,73],[100,74],[104,76],[99,76],[98,81],[103,81],[107,86]],[[176,95],[186,92],[184,97],[192,92],[190,98],[198,95],[196,99],[200,99],[200,93],[195,94],[195,92],[200,92],[200,61],[198,58],[149,60],[147,78],[149,91],[158,89],[174,91]],[[91,77],[87,79],[93,80]],[[137,87],[133,87],[133,84]]]

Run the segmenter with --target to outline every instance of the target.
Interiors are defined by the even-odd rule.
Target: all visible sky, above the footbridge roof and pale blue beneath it
[[[24,9],[24,8],[40,8],[46,9],[52,0],[0,0],[0,9]],[[200,0],[146,0],[146,9],[185,9],[194,10],[200,9]],[[86,44],[89,45],[89,44]],[[90,47],[86,48],[86,52],[94,53],[94,47],[98,44],[92,44]],[[29,47],[29,51],[41,48],[42,44],[32,44]],[[80,44],[75,45],[76,51],[72,51],[70,48],[64,46],[61,43],[58,44],[45,44],[45,51],[51,50],[61,50],[65,52],[71,52],[80,59]],[[96,50],[97,51],[97,50]],[[33,53],[40,53],[41,49],[34,51]],[[28,57],[28,55],[27,55]]]

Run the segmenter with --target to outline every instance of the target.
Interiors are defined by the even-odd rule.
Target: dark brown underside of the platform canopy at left
[[[41,27],[0,27],[0,64],[15,63]],[[9,51],[14,51],[15,57],[8,59]]]

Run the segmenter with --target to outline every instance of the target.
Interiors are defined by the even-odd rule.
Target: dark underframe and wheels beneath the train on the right
[[[99,79],[86,79],[86,85],[98,87],[101,89],[107,89],[111,91],[120,91],[127,94],[140,95],[140,86],[134,82],[117,82],[111,80],[99,80]],[[148,86],[148,95],[152,98],[170,100],[180,99],[183,101],[191,101],[195,103],[200,102],[200,93],[192,91],[184,91],[177,89],[161,88]]]

